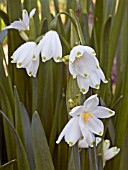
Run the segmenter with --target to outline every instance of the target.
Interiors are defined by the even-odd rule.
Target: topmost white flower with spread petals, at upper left
[[[16,29],[19,31],[25,31],[29,27],[29,19],[30,17],[33,17],[35,14],[36,9],[32,9],[30,14],[28,15],[28,12],[24,9],[22,11],[22,20],[20,19],[19,21],[14,21],[11,23],[9,26],[5,27],[4,29]]]

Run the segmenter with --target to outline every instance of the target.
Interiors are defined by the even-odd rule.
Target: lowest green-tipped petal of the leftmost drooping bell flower
[[[32,60],[30,62],[30,64],[26,67],[26,71],[28,73],[28,75],[31,77],[36,77],[37,71],[38,71],[38,67],[39,67],[39,57],[37,58],[37,60]]]

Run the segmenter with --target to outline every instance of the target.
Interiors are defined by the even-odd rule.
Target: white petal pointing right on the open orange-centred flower
[[[91,112],[97,118],[109,118],[115,115],[115,112],[107,107],[97,106],[95,110]]]

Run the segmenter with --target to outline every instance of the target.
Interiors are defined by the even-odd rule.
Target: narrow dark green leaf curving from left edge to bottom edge
[[[30,170],[29,164],[28,164],[28,159],[26,156],[26,152],[25,152],[25,148],[21,142],[21,139],[18,135],[18,133],[16,132],[14,126],[12,125],[12,123],[10,122],[10,120],[7,118],[7,116],[0,111],[0,113],[2,114],[5,123],[9,126],[9,128],[11,129],[11,132],[14,136],[15,142],[16,142],[16,146],[18,149],[18,162],[19,162],[19,170]]]

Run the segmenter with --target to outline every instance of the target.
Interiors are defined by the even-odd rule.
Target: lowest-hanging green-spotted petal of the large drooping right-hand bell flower
[[[80,91],[83,94],[86,94],[89,90],[89,80],[88,80],[88,78],[84,78],[80,75],[77,75],[77,83],[78,83],[78,86],[80,88]]]

